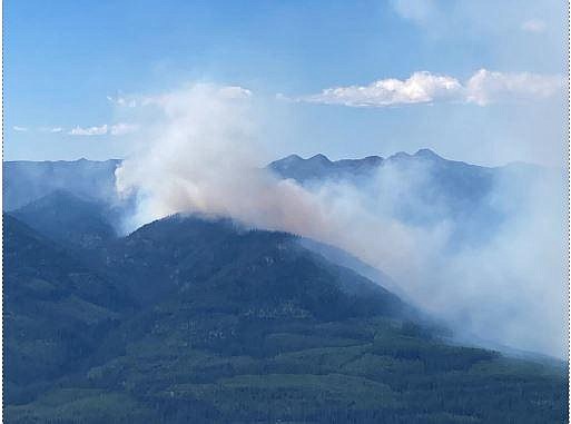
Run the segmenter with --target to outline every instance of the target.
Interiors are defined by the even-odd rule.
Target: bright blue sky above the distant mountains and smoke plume
[[[126,157],[137,132],[112,129],[129,127],[109,98],[208,81],[254,93],[275,157],[429,147],[479,164],[559,164],[567,148],[565,88],[558,83],[567,75],[565,7],[7,0],[4,159]],[[489,73],[478,85],[481,69]],[[416,80],[406,80],[420,71],[430,78],[419,82],[419,97],[411,93]],[[443,91],[437,76],[453,89]],[[393,88],[388,79],[403,83]]]

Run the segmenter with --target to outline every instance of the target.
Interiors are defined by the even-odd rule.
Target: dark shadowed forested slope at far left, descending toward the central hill
[[[3,215],[6,400],[69,374],[132,308],[126,292],[56,243]]]

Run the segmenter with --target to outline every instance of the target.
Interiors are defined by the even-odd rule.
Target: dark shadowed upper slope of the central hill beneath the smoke
[[[323,308],[321,314],[368,314],[376,305],[375,314],[397,316],[406,309],[396,296],[296,240],[284,233],[245,230],[227,219],[175,216],[114,243],[102,260],[111,274],[128,275],[144,302],[174,288],[214,287],[213,278],[223,276],[224,290],[243,284],[248,305],[289,296],[287,302],[312,305],[315,313]]]

